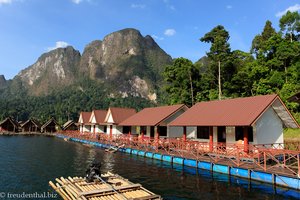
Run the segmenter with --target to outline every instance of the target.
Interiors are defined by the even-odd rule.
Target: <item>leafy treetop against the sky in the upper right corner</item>
[[[297,11],[287,11],[280,18],[279,26],[282,32],[285,31],[291,42],[293,42],[293,39],[299,39],[296,33],[300,32],[300,14]]]

